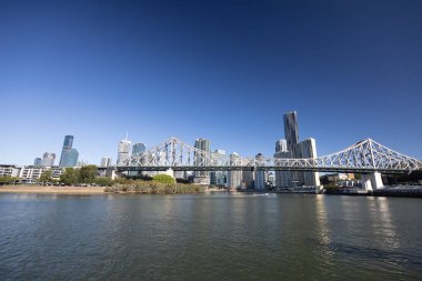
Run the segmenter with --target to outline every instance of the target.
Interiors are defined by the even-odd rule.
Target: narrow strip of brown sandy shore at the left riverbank
[[[0,193],[101,194],[104,187],[0,185]]]

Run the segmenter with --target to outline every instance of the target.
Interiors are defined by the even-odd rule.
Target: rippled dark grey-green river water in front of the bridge
[[[421,280],[422,200],[0,194],[0,280]]]

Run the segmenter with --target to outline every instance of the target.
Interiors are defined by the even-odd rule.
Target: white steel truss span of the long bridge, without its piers
[[[356,173],[411,173],[422,172],[422,161],[395,152],[371,139],[324,157],[254,158],[223,155],[199,150],[178,138],[155,145],[141,154],[134,154],[118,165],[123,171],[313,171]]]

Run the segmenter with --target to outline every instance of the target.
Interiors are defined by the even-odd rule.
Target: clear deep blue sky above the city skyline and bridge
[[[174,136],[271,155],[297,110],[318,153],[422,159],[422,1],[0,1],[0,163],[117,159]],[[58,163],[58,160],[56,161]]]

